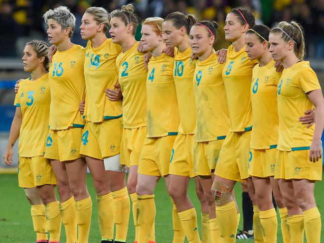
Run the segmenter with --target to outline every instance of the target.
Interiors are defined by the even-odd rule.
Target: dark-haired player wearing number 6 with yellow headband
[[[281,72],[276,72],[275,61],[269,52],[269,33],[269,27],[255,25],[245,35],[245,51],[248,58],[259,62],[253,68],[250,92],[253,129],[248,173],[252,176],[257,202],[257,205],[253,206],[255,242],[277,242],[278,222],[272,202],[273,192],[279,208],[283,239],[288,243],[287,208],[278,181],[274,179],[279,136],[277,85]]]

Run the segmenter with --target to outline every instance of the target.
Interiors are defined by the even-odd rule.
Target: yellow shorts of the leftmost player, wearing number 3
[[[50,160],[43,156],[19,157],[18,184],[23,188],[56,185]]]

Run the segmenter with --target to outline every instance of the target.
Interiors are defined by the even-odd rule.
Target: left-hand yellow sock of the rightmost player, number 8
[[[289,239],[291,243],[304,242],[304,216],[292,215],[287,217]]]

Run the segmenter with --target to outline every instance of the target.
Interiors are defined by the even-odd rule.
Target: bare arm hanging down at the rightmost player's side
[[[310,160],[316,162],[322,158],[323,154],[321,137],[324,129],[324,99],[322,90],[311,91],[307,93],[307,96],[316,108],[315,131],[310,150]]]

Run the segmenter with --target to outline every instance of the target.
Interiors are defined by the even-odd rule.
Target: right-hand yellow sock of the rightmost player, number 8
[[[318,208],[303,212],[307,242],[320,243],[321,241],[321,214]]]

